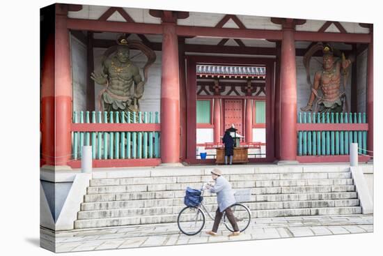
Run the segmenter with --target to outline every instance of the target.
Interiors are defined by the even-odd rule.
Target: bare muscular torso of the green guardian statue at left
[[[130,96],[133,82],[141,82],[139,68],[130,61],[120,63],[115,57],[104,62],[104,73],[108,74],[108,90],[118,96]]]

